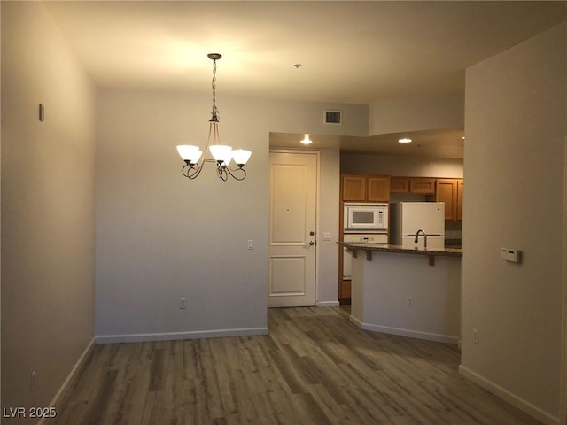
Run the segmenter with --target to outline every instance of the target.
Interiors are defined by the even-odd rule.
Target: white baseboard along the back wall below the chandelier
[[[195,330],[190,332],[164,332],[159,334],[97,335],[96,344],[144,343],[147,341],[174,341],[176,339],[219,338],[222,336],[267,335],[268,328],[237,328]]]

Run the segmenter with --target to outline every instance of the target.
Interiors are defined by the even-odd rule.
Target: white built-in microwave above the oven
[[[345,204],[345,233],[387,232],[388,204]]]

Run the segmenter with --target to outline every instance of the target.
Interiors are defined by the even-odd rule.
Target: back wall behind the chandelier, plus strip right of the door
[[[192,182],[181,174],[175,145],[204,145],[209,97],[98,92],[99,341],[266,331],[269,132],[316,128],[323,105],[220,94],[217,104],[221,141],[253,152],[244,182],[221,182],[210,168]],[[336,232],[338,151],[322,153],[322,189],[320,229]],[[338,298],[338,251],[330,244],[320,245],[322,305]],[[186,310],[179,298],[187,298]]]

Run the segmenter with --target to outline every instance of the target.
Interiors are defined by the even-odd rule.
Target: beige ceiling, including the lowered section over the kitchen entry
[[[468,66],[557,25],[567,12],[565,2],[547,1],[43,4],[101,87],[209,93],[206,54],[221,53],[219,104],[222,96],[372,104],[462,93]],[[453,131],[425,132],[421,148],[411,149],[448,155]],[[273,136],[273,145],[299,137]],[[400,154],[392,137],[319,139],[356,151],[387,145],[385,154]]]

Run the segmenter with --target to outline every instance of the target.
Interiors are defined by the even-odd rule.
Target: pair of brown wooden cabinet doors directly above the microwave
[[[353,202],[390,201],[390,177],[387,175],[344,174],[342,199]]]

